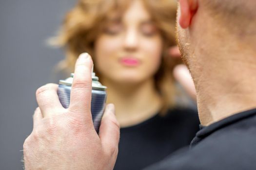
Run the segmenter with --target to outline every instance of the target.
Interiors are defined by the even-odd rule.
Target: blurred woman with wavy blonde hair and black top
[[[115,170],[139,170],[189,145],[198,130],[197,114],[177,105],[169,54],[175,46],[175,0],[79,0],[66,15],[55,44],[73,72],[88,52],[107,103],[120,123]],[[67,75],[68,75],[67,74]]]

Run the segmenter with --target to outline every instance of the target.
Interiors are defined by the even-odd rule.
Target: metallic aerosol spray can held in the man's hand
[[[70,91],[73,82],[74,73],[71,73],[70,77],[65,80],[59,81],[58,95],[59,101],[64,108],[68,108],[70,103]],[[98,77],[92,71],[92,102],[91,112],[93,118],[93,124],[96,132],[98,133],[101,118],[106,102],[106,86],[101,85],[98,82]]]

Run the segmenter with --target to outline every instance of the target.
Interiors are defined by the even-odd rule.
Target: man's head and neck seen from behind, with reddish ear
[[[178,0],[177,39],[203,125],[255,107],[256,0]]]

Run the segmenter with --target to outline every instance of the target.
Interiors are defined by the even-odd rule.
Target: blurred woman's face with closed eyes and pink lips
[[[124,15],[109,18],[95,42],[95,64],[104,79],[117,83],[141,83],[157,72],[162,38],[140,0]]]

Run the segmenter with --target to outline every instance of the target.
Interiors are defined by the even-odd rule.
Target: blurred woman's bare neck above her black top
[[[154,86],[154,80],[140,84],[118,84],[101,79],[108,87],[107,103],[114,103],[116,116],[121,127],[138,124],[156,115],[161,102]]]

